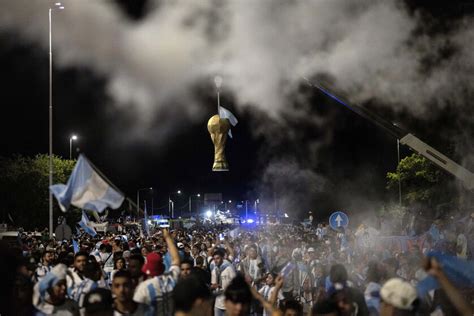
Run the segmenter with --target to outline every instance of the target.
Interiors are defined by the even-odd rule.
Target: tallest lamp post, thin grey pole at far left
[[[53,185],[53,41],[52,16],[53,11],[63,10],[64,6],[56,2],[49,8],[49,186]],[[49,238],[53,238],[53,194],[49,191]]]

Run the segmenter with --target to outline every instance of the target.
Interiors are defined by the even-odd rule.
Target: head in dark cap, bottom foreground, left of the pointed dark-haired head
[[[181,279],[173,290],[176,312],[190,316],[212,315],[212,294],[209,288],[196,276]]]

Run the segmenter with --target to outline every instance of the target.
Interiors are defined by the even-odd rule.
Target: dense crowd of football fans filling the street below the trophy
[[[379,243],[368,227],[324,224],[81,232],[62,241],[23,233],[1,245],[0,313],[473,315],[472,284],[450,279],[440,259],[473,264],[469,220],[435,222],[406,249]],[[427,276],[437,286],[421,293]]]

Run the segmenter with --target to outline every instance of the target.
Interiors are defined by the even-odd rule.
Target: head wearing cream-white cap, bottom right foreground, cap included
[[[380,316],[415,315],[417,304],[416,289],[402,279],[392,278],[380,289]]]

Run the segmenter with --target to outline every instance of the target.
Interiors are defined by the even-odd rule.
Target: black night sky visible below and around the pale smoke
[[[468,1],[407,3],[412,10],[422,9],[434,21],[429,32],[444,32],[451,21],[473,11]],[[131,23],[139,23],[147,17],[149,3],[146,0],[117,0],[116,5]],[[47,51],[5,30],[0,33],[0,65],[3,87],[0,154],[47,153]],[[280,204],[280,207],[291,207],[284,211],[301,215],[313,210],[317,217],[324,218],[337,209],[357,213],[397,198],[396,193],[385,189],[385,174],[393,171],[397,163],[396,139],[304,82],[298,91],[303,95],[305,111],[323,118],[324,124],[314,124],[290,114],[285,116],[284,124],[278,125],[262,113],[238,108],[235,95],[224,91],[223,104],[236,114],[239,124],[233,128],[234,138],[228,140],[226,148],[230,172],[213,173],[213,145],[206,127],[216,104],[212,82],[194,87],[199,102],[208,105],[202,107],[208,113],[198,120],[183,120],[175,131],[167,134],[165,142],[155,144],[120,141],[120,135],[127,132],[127,124],[134,118],[126,111],[108,106],[114,101],[105,92],[107,80],[87,66],[54,69],[53,152],[67,158],[69,137],[76,133],[79,140],[74,144],[75,151],[85,153],[132,199],[136,198],[137,189],[143,187],[154,188],[155,206],[166,205],[168,193],[178,189],[185,193],[178,207],[187,202],[190,193],[222,192],[225,200],[259,198],[263,205],[274,205],[274,198],[280,204],[280,199],[293,196],[288,204],[281,203],[285,206]],[[301,101],[296,99],[292,108],[298,109]],[[460,158],[459,153],[452,150],[452,136],[460,129],[456,104],[436,111],[429,119],[414,117],[408,111],[395,113],[378,101],[363,105],[388,120],[401,123],[441,152]],[[472,113],[472,107],[469,109]],[[167,113],[158,114],[155,128],[146,138],[160,138],[153,133],[160,133],[160,124],[167,119]],[[275,141],[254,133],[256,126],[268,126],[275,134]],[[317,151],[310,148],[314,144],[318,146]],[[402,147],[401,154],[403,157],[410,151]],[[321,177],[320,186],[316,190],[299,188],[293,180],[278,180],[278,185],[269,185],[264,171],[274,161],[296,162]],[[308,182],[303,181],[303,185],[313,185],[313,180],[318,179],[310,178]],[[301,192],[295,192],[298,190]]]

